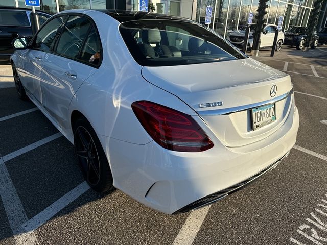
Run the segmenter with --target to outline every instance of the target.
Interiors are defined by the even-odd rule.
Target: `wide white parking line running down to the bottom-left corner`
[[[0,197],[16,244],[39,244],[33,231],[25,232],[25,230],[21,228],[21,224],[27,222],[28,219],[2,157],[0,157]]]

